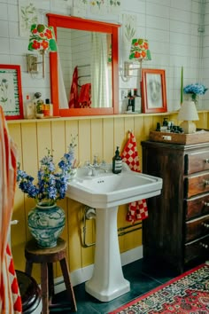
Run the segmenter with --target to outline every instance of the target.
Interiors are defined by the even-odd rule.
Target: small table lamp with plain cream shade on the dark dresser
[[[183,101],[177,119],[183,121],[180,126],[185,134],[196,132],[196,125],[192,121],[199,120],[199,117],[194,101]]]

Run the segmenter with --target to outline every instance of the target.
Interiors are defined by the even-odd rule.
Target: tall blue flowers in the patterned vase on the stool
[[[47,155],[40,161],[36,184],[34,184],[34,177],[27,175],[25,171],[20,170],[18,167],[17,182],[19,189],[26,193],[29,198],[35,199],[37,203],[47,201],[50,206],[54,205],[57,200],[64,199],[69,173],[74,167],[75,146],[73,139],[68,147],[68,152],[58,162],[57,169],[53,161],[53,155],[50,149],[47,149]]]

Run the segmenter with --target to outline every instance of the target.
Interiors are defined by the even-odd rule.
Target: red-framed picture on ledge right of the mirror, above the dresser
[[[165,70],[142,69],[143,113],[166,113],[166,72]]]

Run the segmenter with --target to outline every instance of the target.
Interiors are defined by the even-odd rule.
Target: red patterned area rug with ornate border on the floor
[[[209,314],[209,266],[202,264],[109,314]]]

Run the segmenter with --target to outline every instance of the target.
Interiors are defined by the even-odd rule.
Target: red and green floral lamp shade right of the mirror
[[[129,59],[151,60],[151,51],[147,39],[132,39]]]

